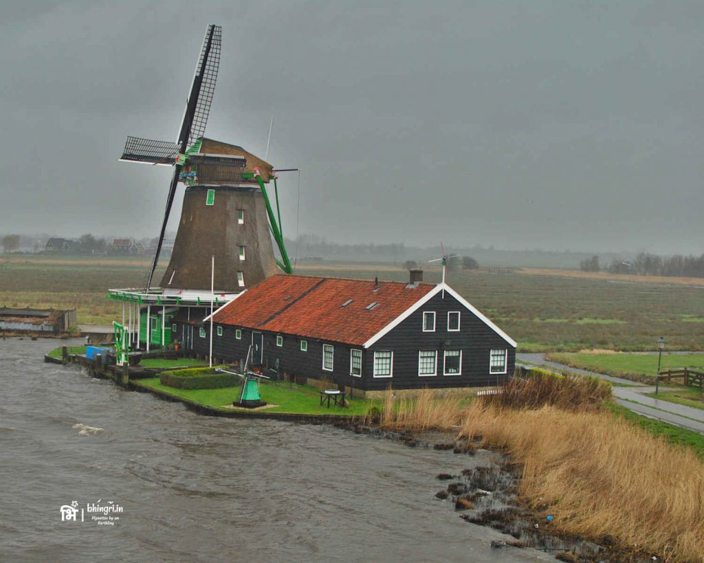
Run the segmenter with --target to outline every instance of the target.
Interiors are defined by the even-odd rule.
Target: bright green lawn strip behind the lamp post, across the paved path
[[[553,353],[546,356],[551,362],[591,369],[592,371],[610,375],[650,375],[658,374],[657,354],[583,354],[583,353]],[[691,367],[704,369],[704,354],[662,355],[660,369],[676,369]]]

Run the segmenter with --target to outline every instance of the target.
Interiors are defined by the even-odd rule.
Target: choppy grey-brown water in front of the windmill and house
[[[477,457],[331,426],[203,417],[44,364],[58,343],[0,340],[2,561],[554,560],[491,549],[508,536],[434,499],[436,474]],[[74,500],[123,512],[113,525],[85,513],[61,521]]]

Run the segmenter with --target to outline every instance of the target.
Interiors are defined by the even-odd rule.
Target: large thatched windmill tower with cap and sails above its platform
[[[161,288],[210,289],[215,255],[215,289],[242,291],[277,272],[292,273],[281,230],[277,176],[272,165],[241,146],[204,137],[218,79],[222,28],[210,24],[196,63],[177,140],[127,137],[120,160],[172,166],[161,231],[146,277],[151,289],[166,225],[179,182],[186,184],[181,220]],[[265,184],[273,181],[277,215]],[[271,239],[279,248],[274,255]]]

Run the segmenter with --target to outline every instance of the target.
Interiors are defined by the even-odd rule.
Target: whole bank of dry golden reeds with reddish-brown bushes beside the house
[[[386,394],[382,426],[438,429],[481,438],[523,466],[521,498],[555,516],[553,525],[670,561],[704,562],[704,467],[691,450],[667,444],[599,410],[610,387],[589,378],[514,378],[505,395],[417,398]],[[523,399],[523,400],[522,400]]]

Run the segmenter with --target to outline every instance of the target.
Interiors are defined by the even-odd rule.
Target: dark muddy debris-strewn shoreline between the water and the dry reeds
[[[360,420],[335,420],[330,424],[356,434],[403,443],[409,448],[453,450],[457,455],[470,457],[491,453],[486,462],[467,467],[460,474],[441,473],[429,476],[429,481],[437,485],[434,500],[448,503],[457,517],[511,536],[503,541],[492,540],[491,546],[496,549],[533,548],[555,555],[560,561],[580,563],[663,560],[653,553],[624,549],[614,536],[585,538],[562,531],[546,506],[531,507],[520,498],[522,465],[513,462],[506,453],[485,450],[481,438],[467,441],[439,431],[389,431]]]

